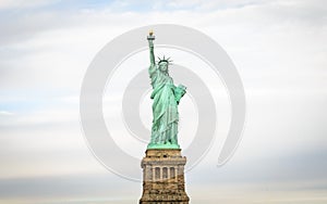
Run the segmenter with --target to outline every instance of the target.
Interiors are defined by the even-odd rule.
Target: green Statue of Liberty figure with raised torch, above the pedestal
[[[156,64],[153,31],[149,31],[147,40],[150,56],[148,73],[153,87],[150,98],[154,100],[152,139],[147,149],[180,149],[178,144],[178,104],[185,94],[186,87],[173,85],[168,73],[168,65],[171,63],[169,58],[165,59],[164,56]]]

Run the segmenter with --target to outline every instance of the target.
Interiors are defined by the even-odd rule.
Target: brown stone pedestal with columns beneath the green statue
[[[147,150],[142,160],[143,195],[140,204],[189,204],[184,186],[186,157],[180,149]]]

